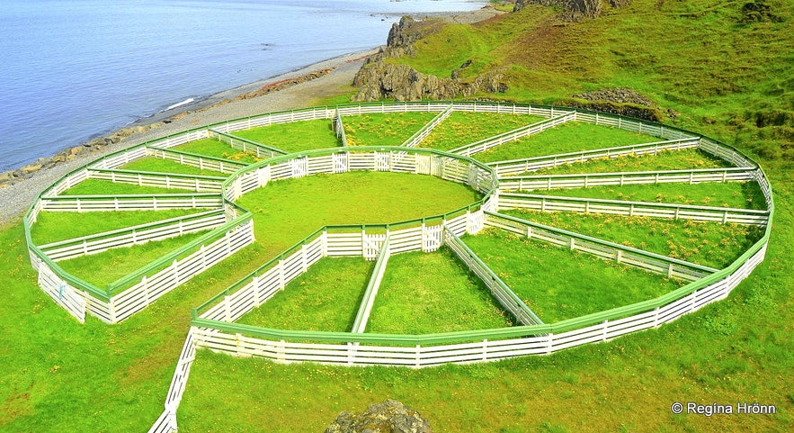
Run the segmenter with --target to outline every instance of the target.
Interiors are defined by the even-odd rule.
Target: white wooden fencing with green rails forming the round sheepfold
[[[358,144],[353,138],[360,131],[349,128],[348,121],[358,122],[353,119],[372,114],[397,113],[429,113],[430,121],[406,131],[397,141],[402,143],[399,146],[378,142],[353,145]],[[518,127],[504,126],[504,131],[489,132],[486,138],[477,137],[468,144],[447,147],[448,150],[423,146],[444,140],[444,133],[465,136],[468,132],[460,127],[463,124],[470,124],[476,130],[477,121],[470,119],[477,118],[465,116],[483,113],[511,115],[518,119],[516,122],[524,118],[527,121]],[[336,147],[287,151],[279,149],[279,145],[239,135],[240,131],[305,121],[328,122]],[[447,128],[452,132],[444,132],[445,125],[450,124]],[[595,127],[603,131],[629,131],[633,135],[625,140],[642,142],[603,145],[597,140],[562,138],[559,148],[546,151],[548,144],[535,144],[546,141],[533,141],[549,137],[555,131],[567,131],[565,128],[573,131]],[[475,132],[471,132],[472,136]],[[181,148],[205,142],[228,151],[202,153]],[[692,151],[716,161],[714,167],[642,166],[618,171],[609,168],[625,158],[668,158]],[[235,152],[244,158],[229,156]],[[529,158],[524,158],[522,152],[529,152]],[[509,157],[502,158],[504,155]],[[642,161],[645,159],[638,164]],[[171,166],[144,170],[135,165],[155,163]],[[573,172],[554,171],[561,168]],[[286,179],[352,172],[433,176],[465,185],[478,198],[451,212],[409,221],[326,225],[311,233],[301,233],[306,236],[297,244],[277,257],[267,257],[250,275],[194,308],[165,410],[150,431],[175,431],[177,408],[198,348],[234,356],[260,356],[281,363],[424,367],[545,355],[659,327],[725,298],[750,275],[763,261],[774,214],[772,190],[762,168],[738,150],[694,132],[604,113],[527,104],[355,104],[268,113],[214,124],[147,142],[81,167],[40,194],[25,214],[31,265],[39,274],[41,289],[77,320],[85,321],[88,314],[109,324],[117,323],[261,240],[254,235],[257,216],[237,203],[245,194]],[[85,194],[79,188],[87,182],[131,189],[125,189],[123,194]],[[726,199],[719,198],[720,203],[710,203],[710,195],[704,201],[693,202],[688,197],[684,197],[686,200],[675,197],[663,189],[665,185],[679,189],[750,185],[762,198],[732,202],[738,195],[734,192],[733,197],[727,194]],[[644,190],[631,189],[647,186],[659,188],[651,190],[656,195],[643,195]],[[599,191],[606,193],[593,193]],[[618,198],[608,197],[616,191]],[[81,215],[92,212],[159,211],[183,213],[66,239],[39,241],[34,236],[42,215],[69,214],[75,215],[74,221],[80,221]],[[554,223],[531,221],[533,213],[516,212],[736,225],[753,227],[763,234],[753,239],[749,248],[738,251],[729,265],[714,266],[699,263],[696,258],[675,257],[643,245],[557,227]],[[476,237],[484,230],[510,233],[523,239],[522,242],[564,248],[575,253],[571,260],[598,257],[599,263],[639,269],[678,282],[680,286],[637,302],[547,322],[543,320],[544,314],[533,306],[536,302],[531,295],[519,292],[513,280],[500,276],[503,273],[492,268],[493,263],[482,251],[468,245],[468,237]],[[106,284],[85,281],[60,264],[120,248],[177,239],[186,240]],[[439,249],[450,251],[451,257],[475,275],[477,284],[486,288],[513,326],[412,335],[368,332],[389,262],[398,254],[431,253]],[[245,314],[266,307],[278,293],[289,291],[290,282],[324,257],[361,257],[374,265],[361,302],[354,306],[356,312],[349,329],[276,329],[238,322]]]

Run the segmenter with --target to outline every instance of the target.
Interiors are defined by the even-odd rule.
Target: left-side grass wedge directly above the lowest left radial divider
[[[38,245],[125,229],[138,224],[168,220],[208,209],[174,209],[169,211],[125,212],[40,212],[31,227],[33,242]]]

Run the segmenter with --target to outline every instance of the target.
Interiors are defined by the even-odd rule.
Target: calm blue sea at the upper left
[[[474,0],[3,0],[0,172]]]

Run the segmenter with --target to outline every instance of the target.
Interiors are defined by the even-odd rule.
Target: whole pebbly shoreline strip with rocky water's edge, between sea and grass
[[[477,23],[502,14],[490,5],[475,11],[414,14],[415,19],[441,18],[451,23]],[[314,101],[341,95],[351,86],[364,60],[382,46],[354,51],[296,68],[277,76],[263,78],[189,104],[177,104],[130,122],[120,130],[100,133],[98,137],[67,148],[35,162],[0,173],[0,226],[20,220],[36,196],[62,176],[97,158],[128,149],[149,140],[213,123],[248,116],[311,106]],[[267,90],[265,90],[267,89]],[[349,89],[348,89],[349,90]]]

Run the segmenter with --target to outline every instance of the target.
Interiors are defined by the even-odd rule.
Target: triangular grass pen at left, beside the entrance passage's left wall
[[[105,287],[122,276],[129,275],[174,251],[174,249],[182,247],[193,239],[201,237],[206,232],[207,230],[203,230],[198,233],[147,242],[142,245],[113,248],[91,256],[63,260],[58,262],[58,266],[87,283],[94,284],[97,287]],[[171,266],[171,263],[164,263],[163,266],[150,271],[147,275],[154,275],[167,266]]]

